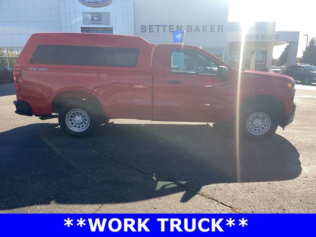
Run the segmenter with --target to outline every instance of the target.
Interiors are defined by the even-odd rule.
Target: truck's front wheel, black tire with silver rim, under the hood
[[[241,109],[239,131],[248,140],[263,141],[270,138],[275,134],[277,125],[277,114],[268,106]]]

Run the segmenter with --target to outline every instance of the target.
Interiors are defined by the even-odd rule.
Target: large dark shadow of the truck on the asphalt
[[[208,124],[109,124],[91,138],[74,139],[56,124],[38,123],[2,132],[0,142],[1,210],[51,201],[133,202],[184,191],[179,201],[185,202],[205,185],[301,173],[300,154],[279,135],[241,141],[237,167],[232,134]]]

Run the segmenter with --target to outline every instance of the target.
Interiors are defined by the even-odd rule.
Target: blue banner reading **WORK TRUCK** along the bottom
[[[0,214],[0,235],[313,236],[315,221],[316,214]]]

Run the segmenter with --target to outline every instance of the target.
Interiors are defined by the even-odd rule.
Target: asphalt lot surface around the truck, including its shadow
[[[113,119],[90,138],[14,114],[0,83],[0,212],[316,212],[316,85],[264,142],[212,123]],[[239,165],[237,165],[239,164]],[[238,179],[237,177],[240,177]]]

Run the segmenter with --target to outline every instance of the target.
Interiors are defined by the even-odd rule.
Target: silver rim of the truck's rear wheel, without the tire
[[[83,132],[90,125],[89,115],[81,109],[72,109],[66,115],[66,124],[74,132]]]

